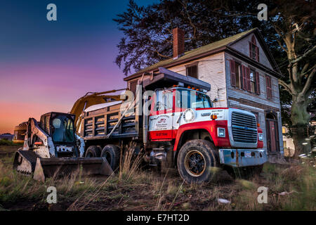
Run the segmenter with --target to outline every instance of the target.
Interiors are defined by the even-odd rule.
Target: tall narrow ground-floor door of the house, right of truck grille
[[[267,113],[265,115],[265,124],[268,152],[275,153],[279,150],[279,129],[277,127],[277,117],[275,113]]]

